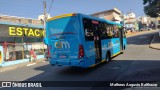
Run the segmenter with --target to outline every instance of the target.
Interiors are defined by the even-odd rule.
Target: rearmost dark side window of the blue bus
[[[94,39],[94,32],[92,29],[92,21],[90,19],[83,19],[83,26],[84,26],[84,35],[86,41],[93,41]]]

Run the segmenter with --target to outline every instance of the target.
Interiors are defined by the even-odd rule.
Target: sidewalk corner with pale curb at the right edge
[[[156,33],[149,45],[150,48],[160,50],[160,36]]]

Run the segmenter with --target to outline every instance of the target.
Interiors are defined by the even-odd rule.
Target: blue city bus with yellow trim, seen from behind
[[[44,42],[51,65],[82,68],[109,62],[127,45],[121,24],[81,13],[48,19]]]

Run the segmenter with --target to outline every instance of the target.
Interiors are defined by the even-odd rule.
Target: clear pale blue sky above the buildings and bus
[[[0,14],[34,18],[43,14],[44,0],[0,0]],[[124,14],[133,12],[136,16],[144,16],[143,0],[46,0],[46,11],[51,16],[66,13],[93,14],[100,11],[118,8]],[[51,9],[49,11],[49,8]]]

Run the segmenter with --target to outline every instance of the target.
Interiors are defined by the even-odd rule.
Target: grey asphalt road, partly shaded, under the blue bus
[[[50,66],[49,62],[0,72],[1,81],[160,81],[160,50],[149,48],[153,33],[128,37],[123,54],[94,68]],[[63,86],[63,85],[62,85]],[[19,89],[19,88],[18,88]],[[44,89],[44,88],[41,88]],[[51,89],[51,88],[48,88]],[[55,87],[54,90],[159,90],[160,88]],[[27,90],[27,89],[26,89]]]

